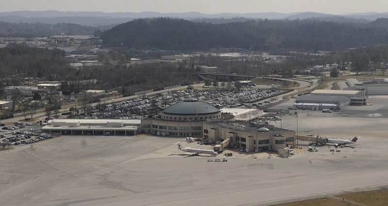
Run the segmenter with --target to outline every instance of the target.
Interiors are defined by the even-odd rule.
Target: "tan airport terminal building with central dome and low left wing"
[[[64,135],[136,135],[142,132],[163,136],[200,137],[210,144],[227,142],[224,147],[244,147],[258,152],[295,147],[294,131],[268,124],[251,124],[252,121],[249,120],[221,121],[219,109],[195,98],[187,98],[164,109],[160,118],[54,119],[41,131]]]

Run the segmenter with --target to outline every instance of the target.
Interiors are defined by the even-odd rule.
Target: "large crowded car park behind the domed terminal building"
[[[288,91],[260,88],[242,88],[226,91],[223,89],[173,90],[159,95],[139,97],[133,100],[95,105],[89,108],[89,114],[73,118],[139,118],[145,115],[155,116],[168,106],[194,97],[208,102],[217,108],[254,107],[272,103],[276,95]],[[81,110],[80,110],[81,111]]]

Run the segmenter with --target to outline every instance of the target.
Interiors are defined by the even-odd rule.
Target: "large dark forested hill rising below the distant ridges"
[[[386,45],[388,19],[369,24],[305,20],[249,20],[225,24],[183,19],[137,19],[101,34],[105,46],[206,50],[255,47],[255,50],[333,50]]]

